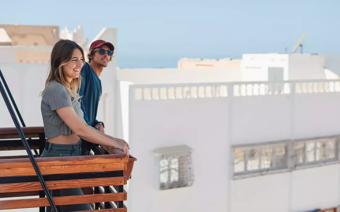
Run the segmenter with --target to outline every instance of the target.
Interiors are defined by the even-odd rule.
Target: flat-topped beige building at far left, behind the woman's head
[[[0,24],[0,45],[53,46],[59,40],[59,26]]]

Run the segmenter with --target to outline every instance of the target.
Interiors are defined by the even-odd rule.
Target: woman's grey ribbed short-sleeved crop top
[[[72,100],[66,88],[59,82],[50,81],[47,84],[41,99],[41,115],[43,115],[46,138],[73,134],[63,119],[55,112],[56,109],[73,107],[80,120],[83,120],[84,113],[80,108],[80,102]]]

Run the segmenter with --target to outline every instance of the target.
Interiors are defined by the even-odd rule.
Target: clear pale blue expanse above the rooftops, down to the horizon
[[[303,32],[305,53],[340,54],[340,0],[0,0],[0,23],[118,28],[121,68],[290,52]]]

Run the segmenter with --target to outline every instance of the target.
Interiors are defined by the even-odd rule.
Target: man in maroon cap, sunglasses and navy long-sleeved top
[[[115,47],[110,42],[96,40],[91,43],[87,55],[88,62],[85,62],[81,69],[82,83],[79,90],[81,98],[81,109],[84,112],[84,119],[89,126],[104,133],[104,123],[96,119],[99,100],[102,95],[102,84],[99,79],[103,69],[112,60]],[[120,140],[121,139],[116,139]],[[124,141],[125,143],[125,141]],[[82,155],[90,154],[89,142],[82,140]]]

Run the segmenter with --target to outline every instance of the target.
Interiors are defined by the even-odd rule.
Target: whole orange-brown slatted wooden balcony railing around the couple
[[[22,128],[30,138],[30,148],[44,149],[43,127]],[[24,149],[16,128],[0,128],[0,150]],[[95,155],[48,157],[35,160],[58,211],[62,205],[89,203],[92,209],[110,212],[127,211],[123,201],[127,199],[123,185],[131,176],[136,158],[128,157],[121,150],[92,146]],[[103,189],[101,188],[103,187]],[[61,189],[82,188],[84,195],[60,196]],[[39,196],[39,198],[1,200],[3,197]],[[0,157],[0,210],[37,208],[45,211],[49,202],[28,156]]]

